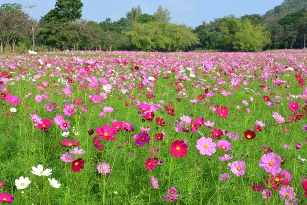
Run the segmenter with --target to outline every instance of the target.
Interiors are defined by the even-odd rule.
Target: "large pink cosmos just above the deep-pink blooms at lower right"
[[[268,173],[277,174],[281,171],[281,158],[275,153],[264,154],[259,162],[259,167],[265,168]]]

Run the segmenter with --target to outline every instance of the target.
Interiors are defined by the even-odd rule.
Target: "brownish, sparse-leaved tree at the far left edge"
[[[24,13],[0,11],[0,42],[3,47],[3,53],[7,51],[10,41],[21,35],[30,33],[31,22],[29,16]]]

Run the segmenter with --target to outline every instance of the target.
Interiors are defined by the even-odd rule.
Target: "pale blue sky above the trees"
[[[41,16],[54,8],[55,0],[0,0],[0,4],[19,3],[23,6],[36,5],[33,8],[33,18]],[[142,12],[153,14],[159,5],[171,13],[171,23],[186,24],[196,27],[202,22],[210,22],[214,18],[234,14],[236,17],[244,14],[265,14],[268,10],[280,5],[283,0],[82,0],[82,18],[102,22],[106,18],[118,20],[125,17],[132,7],[141,6]],[[23,7],[30,15],[30,9]]]

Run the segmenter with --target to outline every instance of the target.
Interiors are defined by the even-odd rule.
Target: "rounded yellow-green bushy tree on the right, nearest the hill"
[[[239,20],[231,15],[221,24],[222,44],[227,50],[258,51],[270,43],[265,26],[253,26],[248,18]]]

